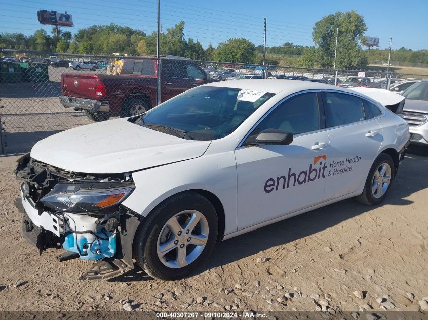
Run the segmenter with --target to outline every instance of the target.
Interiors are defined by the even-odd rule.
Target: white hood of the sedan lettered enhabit
[[[211,141],[181,139],[117,119],[54,134],[31,157],[83,173],[125,173],[202,156]]]

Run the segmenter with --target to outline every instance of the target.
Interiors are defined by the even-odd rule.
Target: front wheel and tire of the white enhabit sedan
[[[174,220],[176,216],[178,220]],[[189,228],[190,232],[187,233],[186,224],[197,217],[196,226],[193,230]],[[175,225],[176,231],[172,231],[168,224]],[[217,233],[218,219],[213,205],[197,193],[182,192],[158,205],[143,220],[134,239],[134,258],[153,278],[168,281],[182,279],[207,260],[217,240]],[[199,244],[192,244],[192,241]],[[165,243],[170,243],[171,248],[162,247]],[[162,248],[168,251],[162,253]]]

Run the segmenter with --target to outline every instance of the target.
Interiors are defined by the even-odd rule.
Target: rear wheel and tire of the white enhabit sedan
[[[385,172],[382,174],[383,169]],[[364,190],[356,199],[367,206],[380,204],[387,196],[394,181],[395,166],[390,155],[381,153],[373,162]],[[379,178],[382,178],[379,185]],[[376,187],[377,186],[377,187]]]

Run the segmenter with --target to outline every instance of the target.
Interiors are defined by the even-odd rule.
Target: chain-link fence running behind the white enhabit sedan
[[[277,78],[393,89],[409,81],[406,79],[423,78],[373,70],[197,61],[169,55],[57,54],[51,60],[21,60],[0,61],[0,154],[27,152],[38,140],[62,130],[140,114],[187,89],[214,81]]]

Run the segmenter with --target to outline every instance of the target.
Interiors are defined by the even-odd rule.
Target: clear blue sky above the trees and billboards
[[[32,34],[52,26],[40,25],[37,10],[67,11],[73,17],[72,28],[77,30],[94,24],[115,23],[143,30],[150,34],[157,30],[157,0],[0,0],[0,33]],[[266,45],[272,47],[285,42],[313,45],[312,27],[322,17],[337,11],[356,10],[364,17],[366,36],[380,38],[379,47],[428,49],[426,20],[428,0],[161,0],[163,32],[184,20],[185,38],[199,39],[204,48],[216,47],[232,37],[244,37],[256,45],[263,44],[263,19],[267,18]]]

